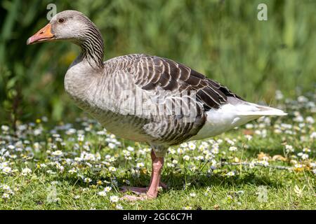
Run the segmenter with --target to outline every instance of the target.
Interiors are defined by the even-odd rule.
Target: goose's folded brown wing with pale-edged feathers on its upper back
[[[171,59],[139,55],[128,71],[143,90],[196,91],[197,101],[203,104],[204,111],[218,109],[227,103],[227,97],[241,99],[227,87]]]

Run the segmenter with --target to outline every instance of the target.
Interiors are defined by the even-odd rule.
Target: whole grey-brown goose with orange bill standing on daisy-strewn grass
[[[96,25],[76,10],[56,14],[27,45],[70,41],[80,55],[65,74],[65,91],[75,104],[118,137],[150,145],[152,174],[148,188],[123,188],[157,197],[164,156],[170,146],[205,139],[261,116],[286,116],[269,106],[246,102],[228,87],[188,66],[163,57],[133,54],[103,62],[104,43]]]

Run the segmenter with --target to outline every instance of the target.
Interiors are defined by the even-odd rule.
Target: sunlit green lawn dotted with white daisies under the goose
[[[315,94],[276,104],[213,139],[169,149],[156,200],[121,200],[147,186],[150,148],[119,139],[90,118],[39,118],[0,130],[0,209],[315,209]]]

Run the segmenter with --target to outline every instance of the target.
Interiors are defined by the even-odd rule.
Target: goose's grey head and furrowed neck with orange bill
[[[27,45],[48,41],[71,41],[81,47],[91,66],[103,67],[103,38],[83,13],[65,10],[56,14],[48,25],[27,39]]]

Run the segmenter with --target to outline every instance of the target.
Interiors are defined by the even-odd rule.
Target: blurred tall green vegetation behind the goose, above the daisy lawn
[[[105,60],[141,52],[169,57],[254,102],[274,104],[275,90],[286,97],[315,90],[316,1],[1,0],[1,124],[82,113],[63,87],[79,48],[25,44],[48,22],[48,3],[91,18],[103,33]],[[257,19],[259,3],[267,4],[268,21]]]

